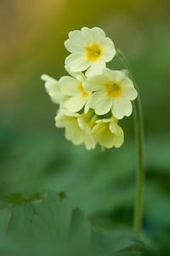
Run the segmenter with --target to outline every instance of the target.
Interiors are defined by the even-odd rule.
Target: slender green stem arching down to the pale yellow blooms
[[[120,49],[116,49],[116,55],[120,57],[123,66],[129,72],[130,79],[133,80],[134,87],[138,90],[138,97],[134,101],[134,127],[136,134],[136,143],[138,149],[138,168],[136,177],[136,199],[134,207],[134,236],[139,238],[142,225],[142,208],[143,208],[143,187],[144,187],[144,129],[143,129],[143,114],[139,98],[139,89],[133,78],[131,68],[122,54]]]

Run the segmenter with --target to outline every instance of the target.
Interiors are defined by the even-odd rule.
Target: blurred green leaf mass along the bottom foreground
[[[0,253],[5,256],[111,256],[133,253],[137,244],[120,232],[92,229],[64,193],[46,191],[38,200],[8,203],[8,209],[0,212]]]

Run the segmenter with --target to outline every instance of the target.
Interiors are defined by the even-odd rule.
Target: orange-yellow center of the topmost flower
[[[89,61],[97,61],[102,55],[102,49],[98,44],[92,44],[86,48]]]

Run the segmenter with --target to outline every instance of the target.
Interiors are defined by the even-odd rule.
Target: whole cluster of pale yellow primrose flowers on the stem
[[[75,145],[119,148],[124,135],[118,120],[132,113],[137,91],[126,73],[106,67],[116,55],[113,42],[99,27],[82,27],[69,33],[65,48],[71,52],[65,59],[69,75],[59,80],[42,75],[51,100],[59,104],[55,125],[64,127]]]

